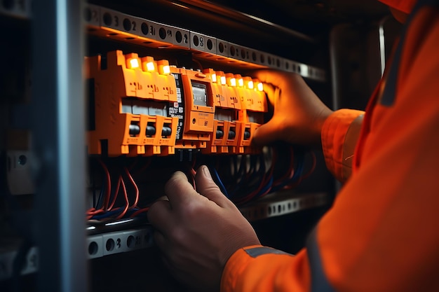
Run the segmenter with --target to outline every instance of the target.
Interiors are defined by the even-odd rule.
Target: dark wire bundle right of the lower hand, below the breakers
[[[304,174],[305,151],[291,146],[273,146],[260,155],[224,156],[210,162],[210,171],[224,195],[242,205],[268,193],[297,186],[313,172],[316,157]]]

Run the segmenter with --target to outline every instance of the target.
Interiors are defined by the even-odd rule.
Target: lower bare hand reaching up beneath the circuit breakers
[[[224,265],[238,249],[259,244],[252,226],[212,181],[208,167],[196,172],[196,190],[182,172],[166,183],[169,201],[155,202],[149,222],[175,278],[197,291],[219,291]]]

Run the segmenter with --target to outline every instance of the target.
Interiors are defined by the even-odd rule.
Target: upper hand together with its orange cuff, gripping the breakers
[[[346,181],[364,112],[331,111],[297,74],[261,70],[255,76],[264,82],[274,112],[273,118],[256,130],[252,143],[321,145],[327,168],[339,181]]]

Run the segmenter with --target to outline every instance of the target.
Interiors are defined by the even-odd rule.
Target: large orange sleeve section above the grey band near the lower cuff
[[[335,291],[439,291],[439,8],[419,10],[402,48],[395,95],[367,111],[360,165],[318,224]]]

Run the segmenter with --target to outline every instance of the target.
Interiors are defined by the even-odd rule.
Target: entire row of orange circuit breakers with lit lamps
[[[262,83],[250,77],[170,67],[121,50],[86,57],[86,71],[92,155],[255,151],[251,138],[267,104]]]

